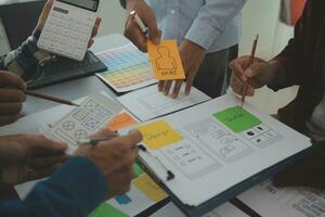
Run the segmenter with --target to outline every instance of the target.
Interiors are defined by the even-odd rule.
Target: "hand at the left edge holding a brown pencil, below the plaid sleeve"
[[[0,71],[0,126],[18,119],[26,100],[26,85],[13,73]]]

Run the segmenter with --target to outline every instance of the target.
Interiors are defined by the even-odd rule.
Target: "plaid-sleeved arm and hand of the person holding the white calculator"
[[[20,48],[11,51],[6,55],[0,55],[0,69],[13,72],[26,81],[37,78],[38,65],[46,64],[47,61],[51,60],[50,53],[40,51],[37,48],[37,41],[44,27],[52,4],[53,0],[48,0],[46,2],[32,35],[28,37]],[[98,35],[101,22],[102,20],[98,17],[92,29],[91,39],[88,42],[89,48],[94,43],[93,38]]]

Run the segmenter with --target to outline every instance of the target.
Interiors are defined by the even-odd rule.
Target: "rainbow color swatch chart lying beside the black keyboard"
[[[108,71],[98,76],[116,92],[127,92],[157,82],[146,53],[132,43],[96,54]]]

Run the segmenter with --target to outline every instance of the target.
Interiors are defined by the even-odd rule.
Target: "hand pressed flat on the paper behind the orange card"
[[[185,39],[180,46],[180,54],[186,75],[185,94],[187,95],[191,92],[191,88],[196,77],[197,71],[205,59],[206,50],[198,44]],[[165,95],[168,95],[173,81],[174,88],[171,97],[176,99],[180,93],[183,80],[160,80],[158,82],[158,90],[162,91]]]

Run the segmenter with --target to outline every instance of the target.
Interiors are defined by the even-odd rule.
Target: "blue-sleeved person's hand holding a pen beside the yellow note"
[[[92,138],[104,138],[112,133],[109,130],[103,130]],[[88,157],[99,167],[109,187],[107,197],[110,199],[130,190],[133,164],[138,156],[136,143],[141,140],[141,133],[132,131],[128,136],[103,141],[95,146],[81,145],[75,154]]]

